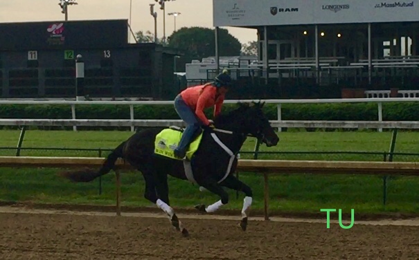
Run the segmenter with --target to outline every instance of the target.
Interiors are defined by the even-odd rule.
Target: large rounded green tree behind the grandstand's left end
[[[168,37],[168,46],[179,48],[185,55],[177,59],[178,68],[185,68],[193,59],[215,56],[215,29],[203,27],[181,28]],[[226,29],[219,29],[220,56],[239,56],[242,44]]]

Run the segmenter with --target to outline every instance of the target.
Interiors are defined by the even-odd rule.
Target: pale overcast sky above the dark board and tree
[[[129,19],[130,0],[77,0],[77,6],[69,6],[69,20]],[[64,15],[59,0],[0,0],[0,22],[61,21]],[[154,0],[132,0],[131,26],[134,32],[154,32],[154,18],[150,15],[150,3]],[[163,10],[156,3],[157,35],[163,36]],[[181,12],[176,27],[202,26],[213,28],[213,0],[176,0],[166,2],[166,37],[172,34],[175,22],[169,12]],[[226,28],[242,43],[255,41],[256,30]]]

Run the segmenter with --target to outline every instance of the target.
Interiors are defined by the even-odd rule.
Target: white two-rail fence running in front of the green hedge
[[[299,128],[299,127],[321,127],[321,128],[373,128],[382,131],[383,128],[404,128],[404,129],[419,129],[419,122],[383,122],[382,121],[382,103],[384,102],[418,102],[417,97],[398,97],[398,98],[349,98],[349,99],[320,99],[320,100],[226,100],[225,104],[235,104],[237,102],[265,102],[267,104],[276,104],[277,106],[277,120],[271,121],[274,127]],[[324,104],[324,103],[376,103],[377,104],[377,121],[294,121],[281,120],[281,105],[282,104]],[[183,125],[181,120],[134,120],[134,105],[163,105],[173,104],[173,101],[37,101],[37,100],[0,100],[1,104],[67,104],[71,106],[71,120],[32,120],[32,119],[1,119],[1,125],[42,125],[42,126],[73,126],[76,131],[76,126],[120,126],[131,127],[154,127],[154,126],[170,126]],[[125,105],[130,106],[130,120],[78,120],[75,115],[75,106],[78,104],[89,105]]]

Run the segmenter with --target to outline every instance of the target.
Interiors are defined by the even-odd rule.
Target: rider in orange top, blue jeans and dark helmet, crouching
[[[175,109],[186,123],[186,129],[174,151],[177,158],[186,156],[186,148],[199,127],[213,127],[213,124],[206,118],[204,109],[214,106],[214,117],[219,115],[230,86],[231,77],[228,71],[224,70],[215,77],[213,82],[187,88],[177,95]]]

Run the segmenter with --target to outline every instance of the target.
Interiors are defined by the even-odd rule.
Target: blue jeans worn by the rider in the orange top
[[[177,146],[177,151],[184,152],[194,134],[199,130],[199,127],[201,127],[202,122],[197,118],[195,112],[184,102],[180,94],[175,98],[175,110],[179,117],[186,122],[186,129]]]

